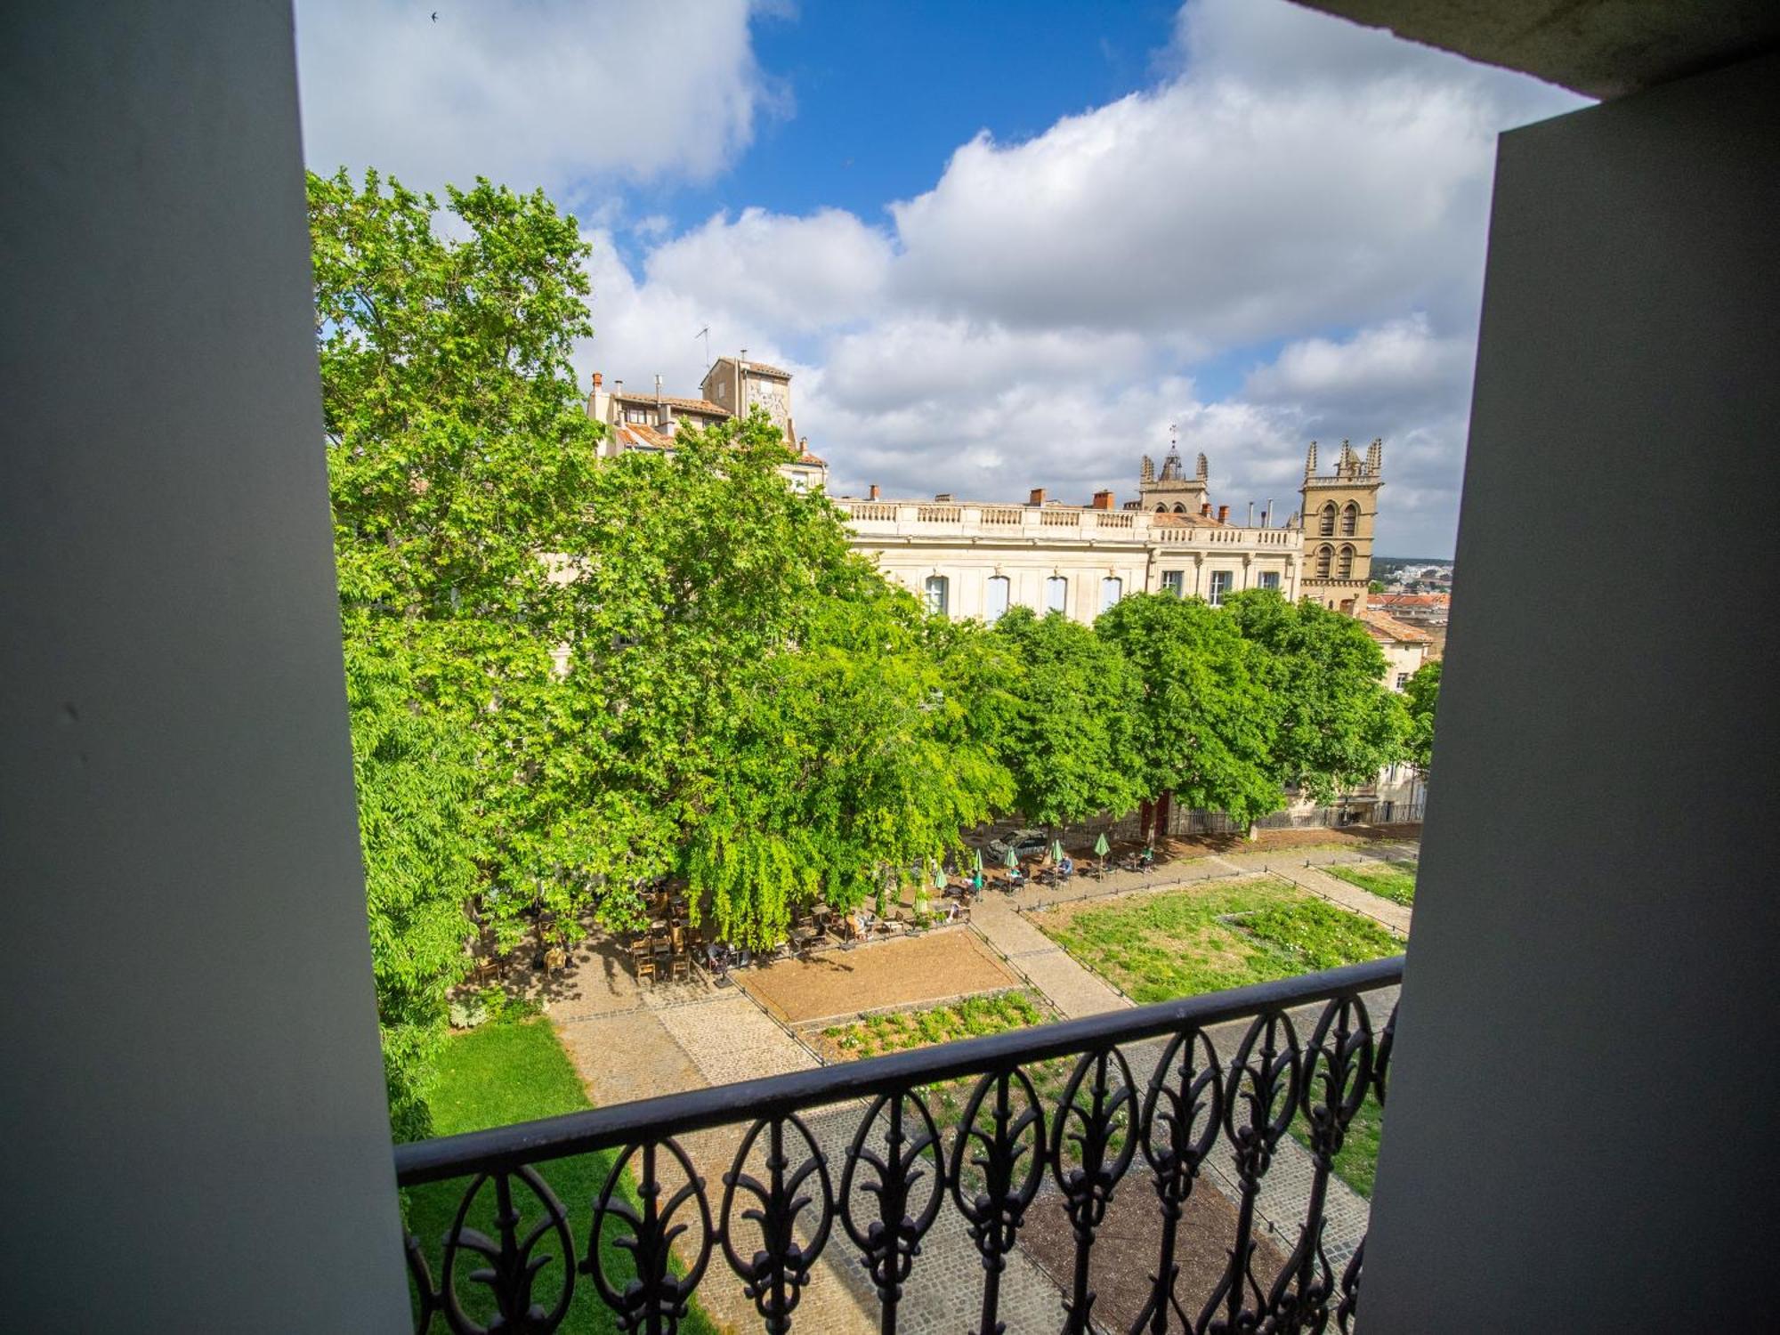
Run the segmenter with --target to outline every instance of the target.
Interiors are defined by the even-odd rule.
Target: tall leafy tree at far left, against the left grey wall
[[[308,178],[315,340],[360,833],[397,1134],[424,1130],[465,906],[518,846],[514,739],[568,600],[539,562],[578,523],[598,427],[573,219],[488,182],[433,196]]]

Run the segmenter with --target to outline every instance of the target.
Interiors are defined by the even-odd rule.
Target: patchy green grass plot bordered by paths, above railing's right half
[[[1397,954],[1383,927],[1266,878],[1031,918],[1139,1004]]]

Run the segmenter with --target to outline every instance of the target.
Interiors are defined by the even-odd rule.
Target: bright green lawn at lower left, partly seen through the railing
[[[593,1107],[573,1063],[557,1041],[555,1031],[546,1020],[536,1018],[488,1024],[465,1034],[454,1034],[445,1047],[438,1084],[427,1102],[433,1109],[434,1136],[456,1136],[465,1130],[482,1130],[484,1127],[502,1127]],[[598,1198],[600,1187],[605,1185],[614,1157],[611,1152],[577,1155],[541,1164],[538,1169],[568,1210],[570,1232],[575,1244],[582,1248],[582,1255],[587,1246],[593,1202]],[[427,1184],[406,1193],[408,1226],[425,1248],[434,1282],[441,1278],[440,1239],[450,1228],[466,1185],[468,1180],[459,1178]],[[632,1205],[635,1203],[635,1184],[628,1175],[623,1194]],[[522,1234],[543,1218],[538,1202],[523,1187],[514,1189],[514,1205],[525,1216],[520,1225]],[[500,1237],[495,1225],[493,1184],[482,1187],[466,1223],[493,1239]],[[609,1226],[607,1237],[612,1232]],[[536,1301],[548,1308],[561,1292],[564,1258],[554,1239],[545,1239],[539,1251],[554,1257],[536,1280]],[[634,1274],[628,1255],[607,1242],[600,1248],[600,1258],[607,1278],[621,1290]],[[459,1255],[457,1292],[468,1312],[486,1326],[493,1315],[488,1290],[468,1280],[468,1273],[479,1264],[481,1260],[473,1255]],[[575,1276],[575,1299],[562,1330],[575,1335],[603,1335],[618,1330],[611,1310],[595,1292],[591,1274]],[[714,1335],[716,1328],[694,1305],[687,1319],[680,1323],[680,1330],[694,1335]]]

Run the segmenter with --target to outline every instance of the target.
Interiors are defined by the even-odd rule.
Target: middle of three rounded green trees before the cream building
[[[1235,618],[1198,598],[1139,593],[1095,621],[1137,675],[1130,780],[1157,803],[1166,829],[1173,801],[1239,821],[1285,805],[1274,776],[1274,719],[1253,671],[1255,650]]]

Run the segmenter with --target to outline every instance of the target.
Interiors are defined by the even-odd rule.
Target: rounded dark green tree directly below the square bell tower
[[[1258,650],[1251,664],[1273,712],[1278,783],[1326,803],[1403,758],[1408,717],[1360,621],[1269,589],[1232,595],[1223,614]]]

